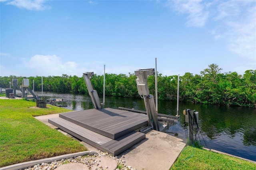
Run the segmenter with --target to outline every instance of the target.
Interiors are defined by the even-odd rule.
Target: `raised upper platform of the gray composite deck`
[[[112,139],[148,125],[147,115],[112,108],[61,113],[60,118]]]

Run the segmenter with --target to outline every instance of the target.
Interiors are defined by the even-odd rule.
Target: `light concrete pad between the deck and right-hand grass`
[[[118,157],[137,170],[169,170],[185,146],[186,141],[180,138],[152,130],[144,140]]]

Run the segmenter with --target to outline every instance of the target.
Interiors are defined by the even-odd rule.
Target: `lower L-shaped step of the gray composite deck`
[[[146,138],[146,134],[133,130],[123,136],[112,139],[60,117],[48,119],[48,122],[91,146],[114,156]]]

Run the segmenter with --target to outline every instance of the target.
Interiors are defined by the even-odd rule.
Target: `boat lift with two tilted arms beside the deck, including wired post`
[[[160,113],[157,113],[157,111],[156,111],[154,96],[150,95],[150,93],[149,93],[148,81],[147,81],[149,75],[155,75],[154,68],[153,69],[136,70],[135,75],[137,76],[136,86],[138,89],[138,93],[144,99],[146,112],[138,111],[138,110],[134,110],[134,109],[127,109],[127,108],[119,108],[119,109],[128,110],[128,111],[137,112],[137,113],[143,113],[143,114],[148,115],[148,127],[144,127],[140,131],[145,132],[149,129],[153,129],[153,130],[157,130],[160,132],[165,132],[167,129],[169,129],[170,126],[174,125],[174,122],[178,122],[178,117],[172,116],[172,115],[160,114]],[[90,81],[92,76],[94,76],[94,72],[83,73],[83,78],[86,83],[88,93],[92,99],[94,109],[102,109],[102,106],[104,105],[104,103],[100,103],[100,98],[98,96],[98,93],[92,87],[92,83]],[[188,117],[190,112],[191,112],[190,109],[188,109],[188,111],[184,112],[184,115],[186,115],[187,123],[191,122],[191,120],[192,120],[192,119],[189,119],[189,117]],[[191,114],[192,114],[192,112],[191,112]],[[197,117],[196,122],[198,122],[198,112],[196,113],[196,117]],[[194,132],[194,130],[192,130],[192,128],[194,128],[194,129],[196,128],[194,123],[192,123],[192,126],[190,125],[190,131],[192,132],[192,135],[190,135],[190,139],[192,139],[192,141],[193,141],[193,134],[195,132]]]

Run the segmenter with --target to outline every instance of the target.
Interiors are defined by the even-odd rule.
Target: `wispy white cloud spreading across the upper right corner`
[[[210,34],[215,40],[225,38],[228,50],[256,61],[256,1],[174,0],[167,6],[186,14],[187,26],[202,28],[213,22]]]

